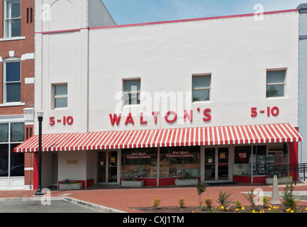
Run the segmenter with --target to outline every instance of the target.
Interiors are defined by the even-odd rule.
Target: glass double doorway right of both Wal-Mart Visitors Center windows
[[[229,181],[229,149],[205,148],[205,181]]]

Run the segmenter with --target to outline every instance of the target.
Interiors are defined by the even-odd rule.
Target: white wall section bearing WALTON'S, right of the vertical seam
[[[89,131],[282,122],[298,125],[296,12],[265,15],[264,21],[250,16],[97,29],[89,35]],[[266,70],[279,68],[287,69],[286,97],[267,99]],[[212,74],[211,101],[191,103],[191,75],[201,73]],[[141,78],[143,94],[183,92],[187,98],[183,98],[183,109],[175,105],[170,110],[181,114],[184,109],[193,109],[193,122],[167,123],[160,107],[150,109],[144,117],[147,125],[140,125],[142,102],[121,108],[121,99],[117,99],[122,80],[127,78]],[[183,99],[177,96],[176,101]],[[278,106],[279,115],[250,116],[252,107],[259,111],[267,106]],[[211,121],[203,122],[203,109],[211,109]],[[157,124],[152,111],[162,113]],[[134,125],[125,125],[129,112],[137,113]],[[120,125],[111,126],[109,114],[120,113]]]

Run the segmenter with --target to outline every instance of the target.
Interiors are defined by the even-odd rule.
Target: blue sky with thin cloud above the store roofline
[[[307,0],[102,0],[118,25],[296,9]]]

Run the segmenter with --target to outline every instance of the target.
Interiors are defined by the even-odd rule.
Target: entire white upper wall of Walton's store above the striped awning
[[[64,1],[55,4],[64,6]],[[77,15],[83,1],[71,2]],[[98,3],[92,1],[89,8]],[[86,13],[78,15],[74,24],[82,28]],[[263,21],[249,16],[52,34],[36,28],[35,109],[45,111],[43,133],[284,122],[298,126],[297,12],[264,15]],[[266,70],[279,68],[287,69],[286,97],[267,99]],[[191,103],[191,75],[202,73],[211,74],[211,100]],[[129,78],[141,79],[141,97],[147,96],[151,105],[122,106],[123,79]],[[60,82],[68,84],[68,108],[52,110],[52,84]],[[175,95],[168,109],[177,112],[175,123],[164,120],[165,99],[156,99],[155,92]],[[274,106],[278,116],[251,116],[252,107],[266,111]],[[211,109],[211,121],[203,121],[204,109]],[[182,121],[184,110],[193,111],[192,122]],[[152,111],[160,111],[156,124]],[[147,124],[140,124],[140,112]],[[134,125],[125,125],[128,113]],[[122,114],[119,126],[111,126],[109,114]],[[50,126],[50,117],[63,116],[72,116],[74,123]]]

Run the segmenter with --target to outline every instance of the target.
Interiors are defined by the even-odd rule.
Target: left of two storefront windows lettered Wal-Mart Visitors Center
[[[123,149],[121,177],[157,177],[157,148]]]

